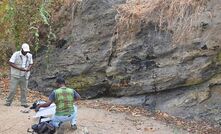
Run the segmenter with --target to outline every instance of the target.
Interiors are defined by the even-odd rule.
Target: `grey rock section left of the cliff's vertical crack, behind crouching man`
[[[111,55],[117,14],[114,6],[122,1],[82,0],[66,10],[62,7],[61,18],[55,26],[59,41],[56,47],[50,47],[49,52],[43,52],[35,59],[30,88],[50,92],[55,78],[61,75],[72,87],[84,91],[93,89],[94,93],[89,91],[92,96],[82,92],[90,97],[100,94],[99,85],[104,85],[102,88],[106,91],[109,84],[105,70]],[[76,85],[79,83],[81,85]]]

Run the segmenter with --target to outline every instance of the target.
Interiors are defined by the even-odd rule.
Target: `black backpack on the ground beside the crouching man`
[[[31,128],[32,133],[37,134],[54,134],[56,132],[56,128],[50,123],[50,121],[41,122],[41,118],[39,123],[32,125]]]

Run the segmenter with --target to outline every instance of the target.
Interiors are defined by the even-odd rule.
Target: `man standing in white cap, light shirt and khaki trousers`
[[[32,54],[27,43],[23,43],[21,50],[16,51],[9,60],[11,66],[10,92],[6,99],[5,106],[10,106],[16,94],[17,86],[21,91],[21,106],[29,107],[26,100],[28,79],[33,65]]]

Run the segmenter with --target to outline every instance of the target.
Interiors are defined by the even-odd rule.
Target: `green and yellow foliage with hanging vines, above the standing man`
[[[57,2],[57,1],[56,1]],[[61,2],[61,1],[59,1]],[[55,3],[55,2],[54,2]],[[52,32],[51,13],[53,12],[52,0],[3,0],[0,3],[0,45],[13,44],[20,49],[23,42],[31,45],[37,54],[43,45],[50,51],[51,41],[56,38]],[[46,32],[40,35],[41,28]],[[43,36],[42,41],[40,41]],[[9,46],[14,48],[14,46]],[[5,51],[5,50],[3,50]],[[0,59],[4,59],[1,57]]]

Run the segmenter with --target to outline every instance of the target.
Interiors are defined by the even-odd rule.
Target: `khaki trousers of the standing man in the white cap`
[[[21,105],[26,105],[27,100],[26,100],[26,92],[27,92],[27,87],[28,87],[28,80],[25,78],[25,76],[22,76],[20,78],[16,78],[11,76],[10,79],[10,92],[9,95],[6,99],[7,104],[11,104],[15,94],[16,94],[16,89],[17,86],[20,86],[20,91],[21,91]]]

